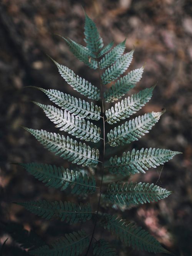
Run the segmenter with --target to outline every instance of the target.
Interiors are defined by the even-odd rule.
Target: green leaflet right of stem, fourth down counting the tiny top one
[[[106,102],[114,102],[124,96],[129,90],[134,88],[142,78],[144,67],[137,68],[130,71],[127,75],[123,76],[108,91],[104,92],[104,99]]]

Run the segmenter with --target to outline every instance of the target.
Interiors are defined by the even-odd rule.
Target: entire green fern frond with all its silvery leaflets
[[[121,76],[131,63],[134,50],[124,53],[125,40],[115,47],[113,47],[113,42],[104,47],[103,39],[99,35],[95,23],[86,14],[84,35],[86,46],[79,45],[68,38],[63,39],[81,62],[84,62],[89,68],[98,69],[100,88],[52,59],[68,85],[89,100],[81,100],[58,90],[34,87],[45,93],[50,101],[55,103],[56,106],[34,101],[56,125],[60,133],[25,128],[55,155],[84,167],[78,170],[76,167],[66,169],[63,166],[45,163],[19,163],[18,165],[25,168],[28,173],[45,183],[46,186],[58,188],[61,191],[70,188],[71,194],[76,195],[93,194],[99,191],[98,206],[96,209],[92,209],[90,203],[46,200],[18,204],[47,220],[59,219],[74,224],[89,221],[92,218],[93,231],[89,234],[82,229],[65,234],[63,238],[56,240],[53,244],[43,244],[30,250],[29,253],[37,256],[75,256],[82,253],[99,256],[117,255],[116,249],[110,245],[110,241],[95,238],[98,224],[115,234],[126,246],[153,253],[169,253],[136,223],[121,219],[116,215],[103,213],[101,207],[101,199],[113,204],[129,206],[158,201],[172,193],[154,184],[133,183],[129,181],[129,176],[136,173],[144,174],[149,168],[163,165],[180,152],[159,148],[142,148],[120,153],[119,156],[111,155],[109,159],[105,157],[106,147],[109,151],[111,147],[136,141],[148,133],[159,121],[164,111],[146,113],[127,121],[127,118],[135,114],[151,99],[155,86],[126,96],[110,107],[108,103],[120,100],[136,86],[142,77],[144,67]],[[113,81],[114,83],[109,89],[104,89],[104,85]],[[103,92],[104,90],[105,92]],[[93,100],[98,101],[97,105]],[[102,125],[99,127],[98,120],[100,119]],[[118,124],[119,122],[121,124]],[[107,134],[105,133],[106,129],[108,130]],[[62,131],[67,132],[69,136],[64,136]],[[92,143],[91,146],[89,143]],[[96,143],[95,146],[93,143]],[[94,175],[89,174],[90,167],[88,168],[88,166],[91,166]],[[108,172],[113,176],[113,182],[109,181],[108,186],[105,187],[103,181]],[[98,178],[99,175],[101,175],[100,178]],[[124,177],[124,181],[118,181],[119,176]]]

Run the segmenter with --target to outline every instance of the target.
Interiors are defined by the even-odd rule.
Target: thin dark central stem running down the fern
[[[100,84],[100,88],[101,88],[101,101],[102,101],[102,118],[103,118],[103,160],[102,160],[102,163],[101,163],[101,185],[100,185],[100,188],[99,188],[99,201],[98,201],[98,207],[97,207],[97,212],[96,212],[96,219],[95,219],[95,223],[94,223],[94,228],[93,228],[93,233],[92,233],[92,236],[91,236],[91,240],[90,240],[90,243],[89,243],[89,246],[88,246],[88,249],[87,249],[87,252],[86,252],[86,255],[88,255],[88,252],[89,252],[89,249],[90,249],[90,246],[91,246],[91,243],[92,243],[92,240],[94,238],[94,232],[95,232],[95,228],[96,228],[96,224],[97,224],[97,221],[98,221],[98,212],[99,212],[99,206],[100,206],[100,201],[101,201],[101,189],[102,189],[102,184],[103,184],[103,171],[104,171],[104,160],[105,160],[105,120],[104,120],[104,98],[103,98],[103,88],[102,88],[102,83],[101,83],[101,75],[100,75],[100,69],[99,69],[99,63],[98,63],[98,72],[99,72],[99,84]]]

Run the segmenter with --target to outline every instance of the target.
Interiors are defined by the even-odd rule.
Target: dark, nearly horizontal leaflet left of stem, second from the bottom
[[[46,220],[60,219],[69,224],[85,222],[92,217],[91,205],[89,203],[75,204],[70,201],[63,203],[62,201],[29,201],[17,203],[24,206],[28,211],[34,213]]]

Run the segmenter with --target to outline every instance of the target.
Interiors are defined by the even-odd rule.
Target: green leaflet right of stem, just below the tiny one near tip
[[[113,65],[113,63],[121,57],[125,50],[125,41],[126,40],[119,43],[116,47],[113,48],[113,50],[111,50],[99,61],[100,68],[107,68],[108,66]]]

